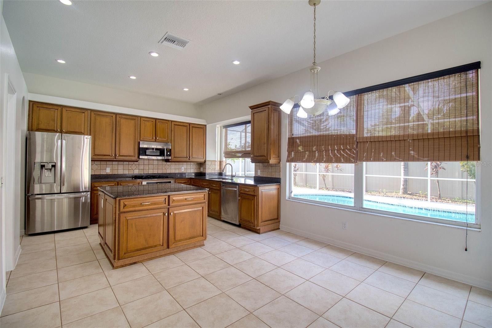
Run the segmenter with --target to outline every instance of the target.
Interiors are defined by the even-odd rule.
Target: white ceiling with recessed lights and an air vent
[[[323,0],[317,62],[484,2]],[[312,62],[307,0],[5,0],[3,17],[25,72],[198,104]],[[158,44],[168,31],[191,43],[181,51]]]

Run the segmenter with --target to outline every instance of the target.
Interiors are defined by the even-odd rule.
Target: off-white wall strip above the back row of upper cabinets
[[[31,94],[77,99],[120,107],[202,118],[191,103],[24,72]]]

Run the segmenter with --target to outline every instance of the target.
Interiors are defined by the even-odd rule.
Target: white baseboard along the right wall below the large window
[[[304,231],[304,230],[299,230],[299,229],[295,229],[295,228],[291,228],[291,227],[286,227],[284,225],[280,225],[280,229],[281,230],[288,231],[288,232],[296,233],[296,234],[299,234],[299,235],[304,236],[304,237],[307,237],[307,238],[311,238],[311,239],[315,239],[315,240],[318,240],[318,241],[322,241],[322,242],[325,242],[325,243],[330,244],[330,245],[334,245],[334,246],[346,248],[346,249],[351,250],[351,251],[354,251],[354,252],[358,252],[358,253],[362,253],[362,254],[365,254],[365,255],[369,255],[369,256],[372,256],[374,258],[378,258],[378,259],[381,259],[381,260],[384,260],[384,261],[389,261],[389,262],[401,264],[401,265],[404,265],[404,266],[411,267],[413,269],[417,269],[417,270],[429,272],[429,273],[432,273],[432,274],[435,274],[435,275],[438,275],[438,276],[441,276],[441,277],[444,277],[444,278],[456,280],[456,281],[459,281],[459,282],[462,282],[462,283],[465,283],[465,284],[469,284],[469,285],[472,285],[472,286],[484,288],[484,289],[487,289],[487,290],[492,290],[492,282],[487,281],[487,280],[484,280],[484,279],[478,279],[478,278],[471,277],[471,276],[468,276],[468,275],[464,275],[464,274],[461,274],[461,273],[458,273],[458,272],[441,269],[441,268],[438,268],[438,267],[435,267],[435,266],[432,266],[432,265],[427,265],[427,264],[423,264],[423,263],[420,263],[420,262],[415,262],[415,261],[407,260],[407,259],[404,259],[404,258],[400,258],[398,256],[391,255],[391,254],[387,254],[387,253],[383,253],[383,252],[379,252],[379,251],[374,251],[374,250],[369,249],[369,248],[366,248],[366,247],[361,247],[361,246],[354,245],[354,244],[351,244],[351,243],[346,243],[346,242],[343,242],[343,241],[339,241],[339,240],[336,240],[336,239],[328,238],[328,237],[325,237],[325,236],[322,236],[322,235],[318,235],[318,234],[315,234],[315,233],[310,233],[310,232],[307,232],[307,231]]]

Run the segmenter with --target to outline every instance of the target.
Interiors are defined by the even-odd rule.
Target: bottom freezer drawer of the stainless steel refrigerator
[[[90,193],[28,196],[26,233],[87,227],[90,204]]]

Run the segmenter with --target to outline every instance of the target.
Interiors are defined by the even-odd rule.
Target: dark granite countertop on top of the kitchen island
[[[208,190],[207,188],[188,186],[188,185],[183,185],[181,183],[99,187],[98,189],[104,194],[113,198],[195,193],[195,192],[204,192]]]

